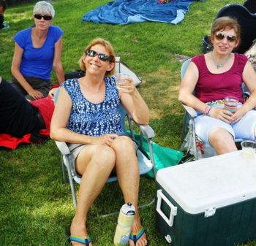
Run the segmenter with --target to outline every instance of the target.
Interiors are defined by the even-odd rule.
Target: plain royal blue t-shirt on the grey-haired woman
[[[24,76],[50,80],[53,67],[54,46],[59,41],[63,31],[58,26],[50,26],[45,43],[42,47],[35,48],[31,39],[32,28],[18,31],[14,36],[15,42],[23,49],[20,72]]]

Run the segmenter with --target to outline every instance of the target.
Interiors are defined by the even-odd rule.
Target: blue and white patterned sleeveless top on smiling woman
[[[105,77],[105,99],[94,104],[80,91],[78,79],[66,80],[61,86],[69,93],[72,109],[67,128],[78,134],[99,137],[104,134],[124,134],[121,130],[120,99],[113,77]]]

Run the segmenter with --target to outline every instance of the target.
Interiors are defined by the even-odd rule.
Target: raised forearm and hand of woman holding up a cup
[[[146,102],[135,87],[132,78],[127,78],[125,82],[120,82],[118,86],[121,103],[132,116],[136,123],[146,125],[149,122],[149,110]]]

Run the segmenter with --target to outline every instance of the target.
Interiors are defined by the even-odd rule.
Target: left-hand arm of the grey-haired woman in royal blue
[[[12,75],[30,96],[32,96],[34,99],[40,99],[43,97],[42,93],[34,90],[20,73],[22,55],[23,49],[17,44],[17,42],[15,42],[14,54],[12,58]]]

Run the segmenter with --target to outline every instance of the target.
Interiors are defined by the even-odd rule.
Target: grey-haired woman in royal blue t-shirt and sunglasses
[[[12,85],[27,99],[48,95],[52,68],[59,83],[64,81],[61,64],[62,34],[58,26],[51,26],[55,10],[47,1],[34,6],[35,26],[18,31],[12,59]]]

